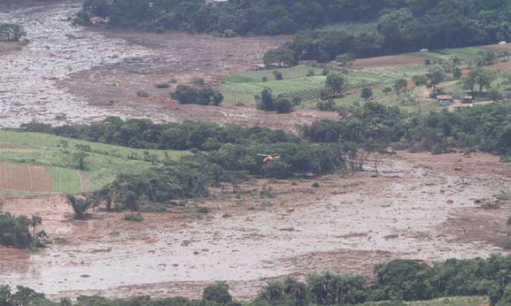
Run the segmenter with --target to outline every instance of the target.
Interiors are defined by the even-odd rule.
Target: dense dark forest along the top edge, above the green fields
[[[109,26],[210,33],[222,36],[300,32],[283,50],[295,61],[456,48],[509,40],[507,0],[315,0],[205,4],[204,0],[86,0],[79,17],[108,17]],[[363,22],[372,31],[327,25]],[[308,31],[310,30],[310,31]],[[306,31],[306,32],[303,32]],[[281,52],[288,56],[289,53]]]

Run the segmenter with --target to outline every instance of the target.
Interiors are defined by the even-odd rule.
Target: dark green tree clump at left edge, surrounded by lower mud
[[[30,220],[25,216],[12,216],[0,212],[0,246],[27,248],[32,242]]]

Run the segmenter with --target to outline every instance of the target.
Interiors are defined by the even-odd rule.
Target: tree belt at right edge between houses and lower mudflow
[[[319,120],[303,134],[314,142],[395,144],[399,149],[431,150],[476,148],[502,156],[511,154],[511,106],[479,105],[459,111],[406,114],[398,107],[368,102],[344,109],[340,121]]]

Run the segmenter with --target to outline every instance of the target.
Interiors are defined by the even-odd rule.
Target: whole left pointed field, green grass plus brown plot
[[[83,172],[77,171],[74,159],[77,145],[89,147]],[[5,130],[0,131],[0,152],[0,192],[10,195],[96,190],[117,174],[142,172],[166,158],[177,160],[190,154],[188,151],[129,149]]]

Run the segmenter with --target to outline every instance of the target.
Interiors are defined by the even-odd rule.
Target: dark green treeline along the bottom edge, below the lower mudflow
[[[430,300],[445,296],[488,296],[492,306],[505,306],[511,302],[509,290],[511,257],[492,255],[488,259],[448,259],[432,265],[413,260],[394,260],[377,264],[375,283],[368,284],[364,277],[322,273],[310,275],[306,281],[286,278],[263,287],[246,306],[306,306],[354,305],[380,302],[382,306],[400,306],[403,302]],[[76,306],[238,306],[228,292],[228,285],[217,282],[205,288],[201,300],[182,297],[151,299],[140,296],[127,299],[107,299],[101,296],[80,296],[76,302],[61,299],[50,302],[43,294],[27,287],[0,286],[0,304],[18,305],[76,305]]]

